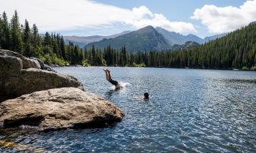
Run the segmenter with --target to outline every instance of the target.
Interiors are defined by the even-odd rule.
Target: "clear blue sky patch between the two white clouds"
[[[200,37],[214,35],[215,33],[209,33],[206,26],[201,24],[199,20],[190,19],[193,16],[193,12],[197,8],[203,7],[203,5],[216,5],[218,7],[233,6],[239,7],[245,0],[97,0],[99,3],[105,3],[109,5],[115,5],[127,9],[133,7],[139,7],[145,5],[152,12],[164,14],[169,20],[191,22],[196,27],[199,27],[198,33]]]

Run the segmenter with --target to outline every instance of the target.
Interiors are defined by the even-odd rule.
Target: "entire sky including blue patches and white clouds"
[[[256,0],[0,0],[40,33],[112,35],[152,25],[199,37],[228,33],[256,20]]]

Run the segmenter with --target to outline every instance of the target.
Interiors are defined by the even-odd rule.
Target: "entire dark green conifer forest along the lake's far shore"
[[[3,12],[0,15],[0,48],[40,58],[50,65],[256,70],[256,24],[194,48],[129,52],[125,47],[115,50],[106,46],[98,50],[94,46],[79,48],[72,43],[65,44],[59,33],[40,35],[35,24],[30,27],[27,20],[20,24],[17,12],[10,22]]]

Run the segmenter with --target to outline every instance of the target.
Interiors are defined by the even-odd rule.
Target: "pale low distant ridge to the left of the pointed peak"
[[[131,31],[124,31],[122,33],[117,33],[115,35],[107,35],[107,36],[92,35],[87,37],[79,37],[79,36],[72,35],[72,36],[63,36],[63,38],[65,39],[66,44],[68,44],[68,42],[70,41],[75,45],[78,45],[79,47],[84,48],[88,43],[100,41],[102,39],[115,38],[115,37],[118,37],[119,35],[124,35],[130,32]]]

